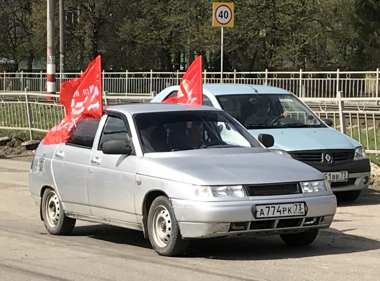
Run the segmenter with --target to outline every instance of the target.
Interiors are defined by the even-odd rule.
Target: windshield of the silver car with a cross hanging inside
[[[223,111],[169,111],[134,115],[142,151],[167,152],[217,147],[261,147]]]

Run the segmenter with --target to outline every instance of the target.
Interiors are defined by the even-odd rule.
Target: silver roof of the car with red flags
[[[210,111],[222,111],[212,106],[201,105],[197,107],[180,105],[177,103],[130,103],[105,106],[106,111],[117,111],[120,113],[129,112],[131,114],[137,113],[153,113],[153,112],[167,112],[167,111],[187,111],[187,110],[210,110]]]

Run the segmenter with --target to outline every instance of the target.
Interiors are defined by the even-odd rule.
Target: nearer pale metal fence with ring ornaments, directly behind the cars
[[[52,97],[52,100],[47,100],[48,96]],[[366,108],[363,98],[342,96],[340,92],[334,98],[301,98],[301,100],[308,102],[322,119],[331,119],[334,129],[358,140],[368,152],[380,153],[380,111],[371,107]],[[152,95],[148,94],[126,96],[103,92],[103,101],[108,105],[148,101],[150,98]],[[336,103],[335,107],[328,107],[326,100]],[[377,101],[375,98],[366,98],[366,100]],[[356,105],[352,105],[353,102],[357,103],[358,108],[355,109]],[[363,107],[359,106],[361,103]],[[31,92],[0,93],[0,129],[23,130],[28,132],[31,139],[41,138],[45,132],[62,120],[64,114],[63,106],[58,102],[58,95]]]

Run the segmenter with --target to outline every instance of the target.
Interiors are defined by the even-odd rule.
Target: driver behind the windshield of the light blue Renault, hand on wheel
[[[286,117],[288,116],[288,113],[284,111],[284,113],[281,114],[282,116]],[[244,124],[271,124],[271,122],[276,119],[277,116],[275,116],[271,111],[271,105],[269,100],[264,98],[258,98],[257,102],[255,103],[255,110],[253,113],[245,119]]]

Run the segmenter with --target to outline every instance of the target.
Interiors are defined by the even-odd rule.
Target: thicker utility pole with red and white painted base
[[[46,92],[55,94],[54,0],[47,0]],[[51,100],[52,97],[47,97]]]

